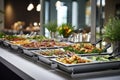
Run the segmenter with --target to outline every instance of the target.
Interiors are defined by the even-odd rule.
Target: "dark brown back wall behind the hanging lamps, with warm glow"
[[[17,21],[24,21],[25,26],[31,22],[39,22],[40,13],[36,7],[32,11],[27,11],[29,3],[37,6],[39,0],[4,0],[5,1],[5,28],[11,28],[11,25]]]

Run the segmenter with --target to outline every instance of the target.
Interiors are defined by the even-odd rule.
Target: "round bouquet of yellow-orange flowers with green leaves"
[[[73,32],[73,27],[71,24],[63,23],[61,26],[58,27],[58,32],[64,38],[68,38]]]

